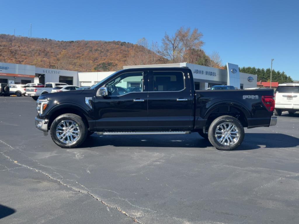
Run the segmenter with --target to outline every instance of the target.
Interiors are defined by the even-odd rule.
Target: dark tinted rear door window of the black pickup
[[[154,71],[154,92],[174,92],[185,88],[184,74],[180,71]]]

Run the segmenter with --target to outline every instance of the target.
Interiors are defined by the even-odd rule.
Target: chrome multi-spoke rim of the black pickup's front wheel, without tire
[[[62,120],[56,127],[56,136],[60,142],[74,143],[80,136],[78,124],[72,120]]]

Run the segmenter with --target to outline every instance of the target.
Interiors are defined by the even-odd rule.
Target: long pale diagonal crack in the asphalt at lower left
[[[7,143],[5,143],[5,142],[3,142],[3,141],[1,141],[1,140],[0,140],[0,142],[3,143],[4,145],[8,146],[9,148],[15,150],[15,148],[13,148],[11,145],[8,145]],[[82,190],[80,190],[80,189],[78,189],[78,188],[71,187],[71,186],[69,186],[69,185],[63,183],[61,180],[52,177],[50,174],[45,173],[44,171],[41,171],[41,170],[36,169],[36,168],[32,168],[32,167],[27,166],[27,165],[24,165],[24,164],[21,164],[21,163],[19,163],[18,161],[11,159],[9,156],[5,155],[3,152],[0,152],[0,153],[2,154],[2,156],[6,157],[10,162],[13,162],[14,164],[17,164],[17,165],[19,165],[19,166],[28,168],[28,169],[30,169],[30,170],[32,170],[32,171],[35,171],[35,172],[39,172],[39,173],[41,173],[41,174],[44,174],[44,175],[46,175],[48,178],[50,178],[50,179],[52,179],[52,180],[55,180],[55,181],[57,181],[58,183],[60,183],[61,185],[65,186],[65,187],[68,187],[68,188],[70,188],[70,189],[72,189],[72,190],[74,190],[74,191],[77,191],[77,192],[80,192],[80,193],[83,193],[83,194],[87,194],[87,195],[93,197],[94,199],[96,199],[97,201],[100,201],[103,205],[106,205],[108,208],[115,208],[115,209],[117,209],[117,210],[120,211],[122,214],[124,214],[124,215],[126,215],[127,217],[131,218],[134,222],[139,223],[139,224],[143,224],[143,223],[141,223],[140,221],[138,221],[138,220],[136,219],[136,217],[132,217],[132,216],[130,216],[127,212],[123,211],[121,208],[118,208],[117,206],[109,205],[107,202],[103,201],[102,199],[100,199],[100,198],[97,197],[96,195],[92,194],[91,192],[89,192],[89,190],[88,190],[84,185],[80,184],[80,183],[77,182],[77,181],[75,181],[75,182],[76,182],[78,185],[84,187],[87,191],[82,191]],[[32,160],[33,160],[33,159],[32,159]],[[39,163],[39,164],[40,164],[40,163]],[[42,164],[40,164],[40,165],[42,165]],[[5,166],[4,166],[4,167],[5,167]],[[5,169],[5,170],[8,170],[8,168]],[[53,169],[53,170],[54,170],[54,169]],[[59,174],[59,175],[60,175],[60,174]],[[61,176],[61,175],[60,175],[60,176]],[[62,176],[61,176],[61,177],[62,177]],[[124,200],[125,200],[125,199],[124,199]]]

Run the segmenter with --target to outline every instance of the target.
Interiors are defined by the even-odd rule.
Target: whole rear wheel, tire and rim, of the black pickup
[[[241,122],[232,116],[220,116],[213,120],[208,131],[211,144],[219,150],[233,150],[244,139]]]

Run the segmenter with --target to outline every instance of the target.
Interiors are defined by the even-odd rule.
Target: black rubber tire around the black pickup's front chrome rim
[[[78,139],[73,143],[61,142],[56,135],[57,125],[59,125],[59,123],[63,120],[71,120],[71,121],[74,121],[77,123],[77,127],[80,130],[80,134],[79,134]],[[73,114],[73,113],[65,113],[65,114],[58,116],[52,122],[51,128],[50,128],[50,134],[51,134],[52,140],[55,142],[56,145],[60,146],[61,148],[75,148],[75,147],[81,145],[87,137],[87,132],[88,132],[87,127],[86,127],[86,124],[83,121],[83,119],[80,116]]]

